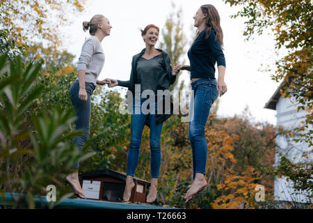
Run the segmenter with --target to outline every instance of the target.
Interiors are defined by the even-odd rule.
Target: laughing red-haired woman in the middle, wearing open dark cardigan
[[[129,152],[127,156],[127,178],[125,191],[123,195],[124,201],[129,201],[131,190],[134,188],[134,174],[138,164],[139,148],[141,146],[141,135],[145,125],[150,127],[150,150],[151,150],[151,186],[147,195],[147,202],[152,203],[157,198],[157,183],[159,178],[159,169],[161,166],[161,147],[160,137],[163,122],[172,114],[157,112],[158,104],[163,103],[163,96],[159,97],[157,91],[166,91],[176,80],[175,74],[172,74],[170,66],[170,56],[162,49],[156,49],[155,45],[159,39],[159,27],[150,24],[141,31],[141,36],[145,41],[145,49],[139,54],[133,56],[131,62],[131,75],[128,81],[120,81],[110,79],[113,86],[125,86],[133,95],[132,113],[131,113],[131,141],[129,144]],[[135,90],[135,85],[140,84],[140,91]],[[154,96],[145,98],[145,92],[150,91]],[[170,95],[166,95],[170,97]],[[136,100],[138,98],[139,100]],[[166,97],[165,97],[166,98]],[[129,100],[129,98],[127,98]],[[153,100],[152,100],[153,99]],[[155,100],[157,99],[157,100]],[[145,112],[145,105],[149,100],[148,112]],[[168,100],[166,98],[165,100]],[[128,105],[131,106],[131,105]],[[167,109],[167,108],[166,108]],[[138,112],[136,112],[138,111]]]

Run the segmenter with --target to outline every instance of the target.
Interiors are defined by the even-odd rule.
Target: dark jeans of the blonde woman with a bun
[[[79,134],[74,139],[74,144],[81,150],[83,148],[83,144],[85,144],[86,140],[90,134],[90,109],[91,109],[91,95],[93,95],[93,91],[95,90],[95,85],[93,83],[86,82],[86,92],[88,95],[88,99],[86,102],[79,99],[79,81],[75,80],[70,88],[70,98],[72,104],[74,105],[75,112],[77,114],[76,119],[76,129],[81,130],[83,133]],[[79,163],[74,164],[74,168],[79,168]]]

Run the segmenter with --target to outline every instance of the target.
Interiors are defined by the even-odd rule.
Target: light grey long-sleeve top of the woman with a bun
[[[81,48],[77,72],[79,70],[85,70],[85,82],[93,83],[96,86],[97,78],[104,66],[104,60],[104,52],[100,41],[97,37],[90,36]]]

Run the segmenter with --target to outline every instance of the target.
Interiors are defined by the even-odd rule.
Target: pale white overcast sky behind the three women
[[[71,26],[64,27],[66,38],[63,40],[68,52],[76,55],[78,61],[81,46],[89,33],[83,32],[82,22],[90,21],[95,14],[109,18],[113,29],[111,36],[102,41],[106,61],[99,79],[129,79],[131,58],[145,47],[140,28],[155,24],[163,28],[172,7],[170,0],[89,0],[86,9],[73,17]],[[176,8],[182,7],[184,33],[188,38],[186,50],[190,47],[191,36],[194,36],[193,15],[202,4],[211,3],[220,14],[220,25],[224,33],[224,54],[226,60],[225,82],[227,93],[220,98],[218,116],[231,117],[241,114],[248,105],[255,121],[267,121],[275,125],[276,112],[264,109],[278,83],[271,79],[271,73],[261,72],[261,64],[273,64],[278,56],[274,53],[273,37],[255,36],[255,40],[246,42],[242,35],[244,24],[242,18],[231,19],[230,15],[239,8],[230,8],[222,1],[181,0],[174,1]],[[268,31],[270,33],[270,31]],[[161,36],[160,36],[161,38]],[[158,46],[158,45],[157,45]],[[186,56],[186,64],[189,64]],[[216,78],[218,73],[216,72]],[[189,72],[184,72],[185,84],[190,83]],[[122,89],[122,87],[115,87]],[[122,91],[124,92],[124,91]]]

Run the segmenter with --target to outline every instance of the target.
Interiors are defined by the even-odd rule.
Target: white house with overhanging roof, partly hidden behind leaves
[[[296,100],[291,98],[284,98],[280,95],[281,85],[272,95],[271,99],[268,100],[265,107],[266,109],[276,110],[277,123],[276,127],[282,126],[287,130],[293,130],[299,127],[301,121],[305,120],[305,111],[296,111]],[[288,157],[289,160],[296,162],[301,162],[301,155],[304,151],[310,151],[310,148],[305,143],[296,143],[292,140],[292,137],[276,137],[276,151],[282,153],[284,156]],[[312,156],[310,157],[313,160]],[[275,166],[277,167],[280,162],[280,156],[278,153],[275,155]],[[293,194],[295,192],[291,181],[287,181],[286,178],[275,178],[274,183],[274,199],[276,201],[296,201],[300,203],[307,203],[307,192],[302,192],[302,194]],[[312,195],[312,194],[311,194]]]

